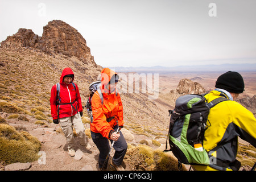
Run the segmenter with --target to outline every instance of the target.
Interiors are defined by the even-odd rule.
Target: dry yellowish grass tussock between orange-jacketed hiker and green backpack
[[[141,144],[129,146],[124,160],[135,171],[187,171],[184,166],[177,167],[177,159],[170,152],[153,150]]]

